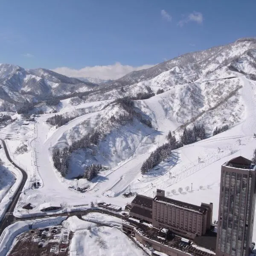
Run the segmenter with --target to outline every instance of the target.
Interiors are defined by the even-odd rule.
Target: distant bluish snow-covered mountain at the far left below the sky
[[[24,103],[39,102],[86,92],[95,84],[60,75],[47,69],[0,64],[0,109],[15,111]]]

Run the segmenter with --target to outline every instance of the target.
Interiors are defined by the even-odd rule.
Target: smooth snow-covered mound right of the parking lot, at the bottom
[[[88,216],[87,216],[88,217]],[[98,219],[102,223],[116,224],[114,217],[92,214],[88,218]],[[144,252],[131,239],[116,227],[97,227],[96,224],[79,220],[76,216],[68,218],[62,223],[74,233],[70,244],[70,256],[143,256]]]

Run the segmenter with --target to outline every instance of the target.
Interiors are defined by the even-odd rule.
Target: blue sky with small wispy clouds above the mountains
[[[255,37],[255,10],[254,0],[2,0],[0,63],[121,74]]]

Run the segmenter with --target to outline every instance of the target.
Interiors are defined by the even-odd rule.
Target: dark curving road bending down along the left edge
[[[14,221],[14,218],[15,218],[15,217],[14,217],[14,215],[12,214],[12,212],[13,212],[14,209],[15,209],[15,206],[16,206],[16,204],[17,204],[17,201],[18,201],[18,199],[19,199],[19,197],[20,197],[20,193],[22,192],[22,189],[23,189],[23,187],[25,186],[25,183],[26,183],[26,180],[27,180],[27,177],[28,177],[28,175],[26,174],[26,172],[25,172],[22,168],[20,168],[20,166],[17,166],[17,164],[12,161],[12,159],[11,159],[11,157],[10,157],[10,155],[9,155],[9,152],[8,152],[8,150],[7,150],[6,143],[5,143],[4,140],[2,140],[2,139],[1,139],[1,141],[2,141],[2,143],[3,143],[3,149],[4,149],[5,153],[6,153],[6,157],[8,158],[8,160],[9,160],[17,169],[19,169],[19,170],[21,171],[21,173],[22,173],[22,180],[21,180],[20,185],[18,186],[18,188],[17,188],[17,190],[16,190],[16,192],[15,192],[15,195],[14,195],[13,198],[12,198],[11,204],[9,204],[9,207],[7,208],[5,217],[4,217],[4,218],[2,219],[2,221],[0,222],[0,236],[1,236],[2,233],[3,233],[3,230],[4,230],[6,227],[8,227],[8,226],[12,223],[12,221]]]

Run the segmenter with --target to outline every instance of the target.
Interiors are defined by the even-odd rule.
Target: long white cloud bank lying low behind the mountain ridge
[[[142,69],[150,68],[153,66],[154,65],[146,64],[140,67],[132,67],[129,65],[122,65],[121,63],[116,62],[113,65],[84,67],[79,70],[72,69],[69,67],[57,67],[52,71],[60,73],[65,76],[70,76],[70,77],[95,77],[95,78],[108,80],[108,79],[118,79],[132,71],[142,70]]]

